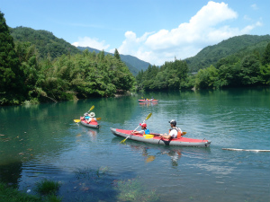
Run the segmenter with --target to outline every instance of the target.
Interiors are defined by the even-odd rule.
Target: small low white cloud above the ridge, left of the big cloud
[[[109,44],[105,44],[105,41],[99,41],[98,39],[91,39],[89,37],[79,38],[77,42],[72,43],[76,47],[91,47],[99,50],[109,48]]]

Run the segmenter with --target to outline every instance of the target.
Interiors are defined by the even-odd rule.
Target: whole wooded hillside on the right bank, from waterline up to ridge
[[[136,76],[143,90],[218,89],[270,85],[269,35],[244,35],[202,49],[191,61],[175,60],[165,65],[149,66]],[[248,44],[251,44],[248,46]],[[188,66],[188,63],[189,66]],[[189,72],[189,74],[188,74]]]

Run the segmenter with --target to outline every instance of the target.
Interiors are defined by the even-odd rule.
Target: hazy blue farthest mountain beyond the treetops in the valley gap
[[[100,50],[98,49],[94,49],[94,48],[90,48],[90,47],[77,47],[80,50],[85,50],[88,49],[90,52],[95,52],[98,53],[100,52]],[[105,55],[110,54],[113,55],[112,53],[108,53],[105,52]],[[140,70],[147,70],[148,66],[150,66],[150,64],[148,62],[142,61],[140,59],[138,59],[137,57],[132,57],[132,56],[126,56],[126,55],[121,55],[121,61],[123,61],[126,66],[129,67],[130,72],[132,73],[132,75],[138,75]]]

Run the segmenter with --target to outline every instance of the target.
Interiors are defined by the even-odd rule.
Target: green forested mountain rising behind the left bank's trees
[[[14,42],[31,42],[39,51],[41,58],[50,57],[52,60],[63,54],[74,55],[81,53],[66,40],[58,39],[49,31],[36,31],[27,27],[10,28]]]

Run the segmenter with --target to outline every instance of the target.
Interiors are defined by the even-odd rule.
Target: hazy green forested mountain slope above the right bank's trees
[[[242,35],[232,37],[216,45],[203,48],[196,56],[186,58],[184,61],[186,61],[190,72],[197,72],[199,69],[211,65],[215,66],[223,57],[229,57],[231,55],[244,57],[254,51],[262,55],[269,42],[270,35]]]

